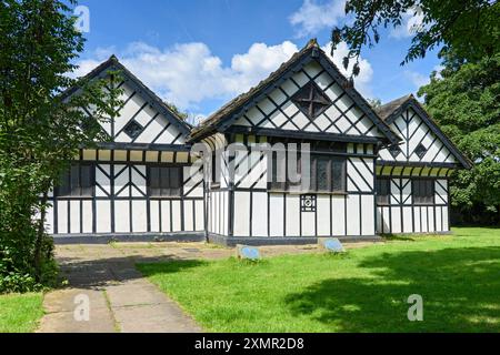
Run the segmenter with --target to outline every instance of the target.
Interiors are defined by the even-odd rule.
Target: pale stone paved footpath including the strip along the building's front
[[[347,245],[361,247],[369,243]],[[267,256],[314,253],[314,245],[267,246]],[[226,258],[233,250],[204,243],[117,243],[104,245],[58,245],[56,256],[68,288],[44,297],[46,316],[39,332],[58,333],[180,333],[202,332],[179,305],[142,277],[138,262]],[[193,285],[196,286],[196,285]],[[82,297],[83,295],[83,297]],[[88,301],[89,321],[78,322],[78,302]],[[76,303],[77,301],[77,303]],[[77,316],[82,314],[77,313]]]

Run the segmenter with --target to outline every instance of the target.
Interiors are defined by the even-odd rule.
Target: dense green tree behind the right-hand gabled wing
[[[426,109],[476,163],[452,180],[454,209],[464,222],[500,223],[500,53],[444,69],[420,88]]]

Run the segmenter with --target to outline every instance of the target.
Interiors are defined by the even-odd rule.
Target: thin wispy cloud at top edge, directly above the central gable
[[[303,38],[338,24],[346,18],[344,9],[346,0],[329,0],[322,4],[316,0],[304,0],[289,20],[292,26],[298,27],[297,36]]]

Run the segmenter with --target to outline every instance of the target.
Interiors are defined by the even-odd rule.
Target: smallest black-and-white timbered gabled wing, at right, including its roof
[[[456,169],[470,169],[471,162],[412,95],[389,102],[378,113],[401,143],[379,152],[377,232],[448,232],[449,178]]]

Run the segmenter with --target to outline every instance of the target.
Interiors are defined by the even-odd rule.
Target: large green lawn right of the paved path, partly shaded
[[[344,255],[138,267],[211,332],[500,332],[500,229]],[[408,321],[412,294],[423,297],[423,322]]]

